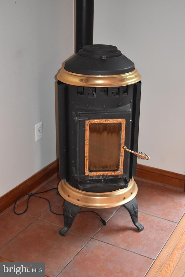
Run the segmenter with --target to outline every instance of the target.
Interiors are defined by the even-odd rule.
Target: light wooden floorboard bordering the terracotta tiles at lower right
[[[185,214],[145,277],[170,277],[185,250]],[[177,277],[178,275],[176,275]],[[181,276],[179,276],[181,277]]]

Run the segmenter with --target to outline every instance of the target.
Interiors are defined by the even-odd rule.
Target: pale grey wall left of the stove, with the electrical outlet
[[[55,75],[74,53],[73,10],[72,0],[1,0],[0,196],[56,160]]]

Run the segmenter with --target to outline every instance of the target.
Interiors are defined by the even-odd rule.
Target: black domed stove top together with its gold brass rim
[[[58,80],[86,87],[125,86],[140,81],[134,63],[116,46],[92,44],[83,46],[65,62]]]

